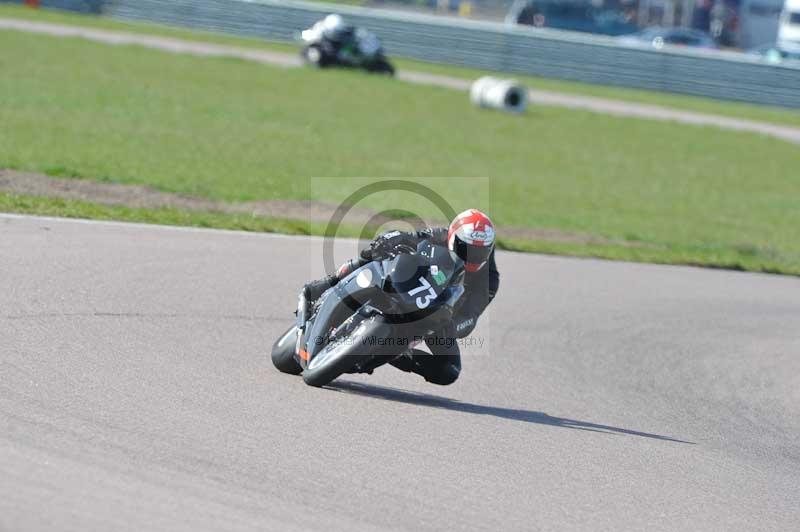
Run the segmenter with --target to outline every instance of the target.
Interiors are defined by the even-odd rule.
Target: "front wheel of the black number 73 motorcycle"
[[[303,372],[303,381],[309,386],[325,386],[341,374],[353,369],[378,353],[369,345],[370,338],[389,338],[392,327],[377,317],[364,320],[347,337],[347,342],[333,343],[320,351],[308,363]],[[402,349],[402,348],[398,348]]]

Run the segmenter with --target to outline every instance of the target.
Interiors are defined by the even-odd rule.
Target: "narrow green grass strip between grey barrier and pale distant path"
[[[146,33],[153,35],[162,35],[167,37],[176,37],[181,39],[216,42],[219,44],[264,48],[264,49],[284,51],[284,52],[296,52],[298,49],[297,45],[289,43],[264,41],[255,38],[236,37],[219,33],[186,30],[186,29],[173,28],[157,24],[122,22],[122,21],[107,19],[104,17],[82,16],[82,15],[76,15],[72,13],[53,11],[53,10],[42,10],[42,9],[34,10],[16,5],[0,5],[0,17],[23,18],[35,21],[54,22],[60,24],[77,24],[81,26],[88,26],[100,29]],[[416,61],[412,59],[398,58],[395,59],[395,62],[402,69],[418,70],[434,74],[443,74],[463,79],[476,79],[480,76],[491,74],[491,72],[485,70],[464,68],[452,65],[442,65],[424,61]],[[611,87],[603,85],[593,85],[588,83],[563,81],[563,80],[548,79],[535,76],[515,75],[515,77],[526,83],[531,88],[536,88],[541,90],[551,90],[551,91],[564,92],[568,94],[581,94],[586,96],[612,98],[617,100],[625,100],[625,101],[652,104],[652,105],[662,105],[667,107],[674,107],[677,109],[683,109],[687,111],[695,111],[699,113],[719,114],[734,118],[745,118],[750,120],[759,120],[764,122],[772,122],[776,124],[785,124],[785,125],[800,127],[800,111],[795,109],[774,108],[774,107],[751,105],[738,102],[717,101],[708,98],[700,98],[694,96],[685,96],[685,95],[656,92],[656,91],[627,89],[627,88]]]

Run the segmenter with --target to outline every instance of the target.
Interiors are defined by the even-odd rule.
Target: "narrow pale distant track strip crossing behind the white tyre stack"
[[[187,41],[172,37],[143,35],[140,33],[98,30],[93,28],[83,28],[80,26],[52,24],[47,22],[30,22],[26,20],[10,18],[0,18],[0,30],[2,29],[41,33],[57,37],[79,37],[105,44],[137,45],[172,53],[192,54],[203,57],[238,57],[241,59],[247,59],[249,61],[281,67],[297,67],[301,65],[300,59],[295,54],[286,54],[269,50],[258,50],[255,48],[226,46],[214,43],[203,43],[198,41]],[[398,72],[397,77],[410,83],[433,85],[436,87],[444,87],[461,91],[469,90],[471,85],[470,81],[460,78],[428,74],[425,72],[415,72],[410,70]],[[777,124],[758,122],[754,120],[745,120],[705,113],[695,113],[692,111],[681,111],[679,109],[661,107],[658,105],[626,102],[608,98],[596,98],[592,96],[581,96],[574,94],[571,95],[544,90],[531,90],[529,92],[531,101],[536,105],[551,105],[557,107],[567,107],[571,109],[584,109],[595,113],[603,113],[615,116],[627,116],[666,122],[679,122],[696,126],[712,126],[733,131],[746,131],[760,135],[769,135],[787,142],[800,144],[800,129],[790,126],[780,126]]]

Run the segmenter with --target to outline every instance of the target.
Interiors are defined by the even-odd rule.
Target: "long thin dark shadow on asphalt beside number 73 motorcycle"
[[[427,393],[398,390],[396,388],[388,388],[386,386],[375,386],[371,384],[363,384],[360,382],[337,380],[329,384],[327,388],[331,390],[336,390],[338,392],[363,395],[366,397],[374,397],[386,401],[395,401],[398,403],[429,406],[432,408],[442,408],[444,410],[452,410],[455,412],[466,412],[469,414],[495,416],[503,419],[510,419],[513,421],[522,421],[525,423],[536,423],[539,425],[550,425],[553,427],[588,430],[592,432],[602,432],[604,434],[616,434],[616,435],[627,434],[630,436],[639,436],[642,438],[652,438],[655,440],[671,441],[676,443],[686,443],[689,445],[694,445],[694,442],[679,440],[676,438],[670,438],[669,436],[661,436],[659,434],[650,434],[648,432],[639,432],[636,430],[623,429],[620,427],[612,427],[610,425],[589,423],[588,421],[578,421],[576,419],[554,417],[554,416],[549,416],[544,412],[536,412],[534,410],[522,410],[517,408],[502,408],[496,406],[476,405],[474,403],[465,403],[462,401],[456,401],[455,399],[448,399],[447,397],[439,397]]]

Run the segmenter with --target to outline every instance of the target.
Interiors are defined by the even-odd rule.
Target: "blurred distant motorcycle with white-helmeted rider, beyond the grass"
[[[303,61],[316,67],[343,66],[369,72],[394,74],[383,55],[378,37],[366,28],[345,23],[339,15],[328,15],[300,34]]]

